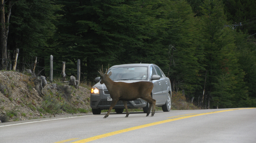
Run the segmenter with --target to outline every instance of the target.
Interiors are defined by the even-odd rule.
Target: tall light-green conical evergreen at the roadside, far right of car
[[[234,51],[233,30],[224,27],[226,18],[221,1],[206,0],[201,8],[204,65],[208,71],[206,93],[208,98],[212,98],[211,107],[234,107],[235,102],[231,102],[234,101],[233,97],[244,96],[246,99],[247,94],[243,82],[244,72],[239,68]]]

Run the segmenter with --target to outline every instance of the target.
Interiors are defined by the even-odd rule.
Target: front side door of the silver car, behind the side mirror
[[[152,77],[153,75],[158,75],[155,71],[154,66],[150,67],[150,77]],[[162,92],[162,86],[161,86],[161,79],[160,80],[152,80],[153,84],[154,84],[154,88],[153,88],[153,98],[156,100],[156,103],[161,102],[161,97],[163,95]]]

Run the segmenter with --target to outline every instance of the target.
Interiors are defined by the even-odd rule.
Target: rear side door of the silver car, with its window
[[[155,67],[156,73],[161,77],[160,82],[161,82],[161,87],[162,87],[162,95],[159,99],[159,102],[165,102],[166,97],[167,97],[168,83],[164,76],[164,73],[160,70],[160,68],[157,66],[154,66],[154,67]]]

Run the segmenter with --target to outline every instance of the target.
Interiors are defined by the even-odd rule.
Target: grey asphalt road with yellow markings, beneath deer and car
[[[0,123],[0,143],[255,143],[256,108],[84,115]]]

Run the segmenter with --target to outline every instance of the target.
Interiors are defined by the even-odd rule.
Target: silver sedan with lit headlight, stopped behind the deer
[[[171,82],[163,71],[155,64],[125,64],[116,65],[109,68],[108,72],[112,72],[110,78],[115,82],[138,82],[149,81],[153,82],[154,88],[151,96],[156,100],[156,106],[162,106],[163,111],[168,112],[171,110]],[[98,82],[92,87],[91,90],[91,108],[92,113],[101,114],[101,110],[109,109],[112,99],[105,84],[100,84],[100,77],[96,77],[95,81]],[[147,113],[149,104],[142,100],[137,99],[127,101],[129,109],[143,108],[144,113]],[[123,113],[123,101],[118,101],[114,108],[116,113]]]

